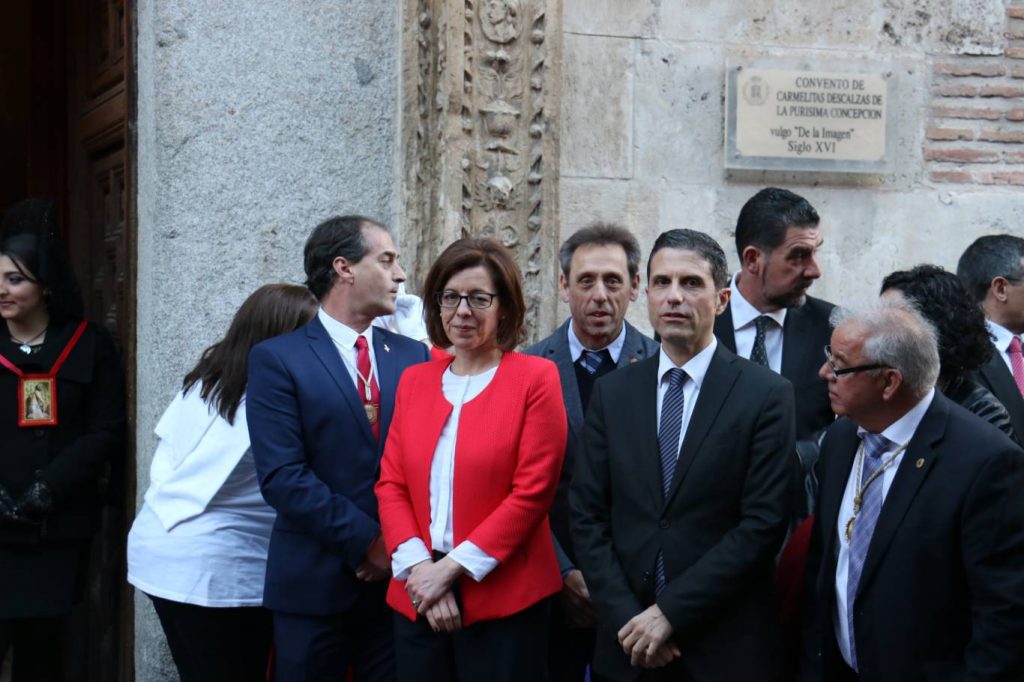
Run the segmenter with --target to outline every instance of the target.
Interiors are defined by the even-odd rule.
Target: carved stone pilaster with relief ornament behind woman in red
[[[407,0],[401,247],[418,285],[453,240],[522,268],[530,341],[555,323],[561,0]]]

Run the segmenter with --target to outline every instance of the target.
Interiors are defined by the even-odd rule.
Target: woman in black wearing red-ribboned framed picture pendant
[[[0,659],[13,679],[63,679],[104,483],[124,446],[114,341],[82,317],[52,204],[8,210],[0,240]]]

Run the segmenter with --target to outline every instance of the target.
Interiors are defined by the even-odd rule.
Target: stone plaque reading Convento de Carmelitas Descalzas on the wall
[[[726,168],[885,173],[890,74],[803,62],[727,66]]]

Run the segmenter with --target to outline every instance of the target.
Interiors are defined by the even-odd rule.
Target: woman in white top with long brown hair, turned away
[[[305,287],[257,289],[157,424],[150,488],[128,534],[128,582],[153,600],[182,682],[265,676],[263,579],[274,512],[249,447],[249,351],[315,312]]]

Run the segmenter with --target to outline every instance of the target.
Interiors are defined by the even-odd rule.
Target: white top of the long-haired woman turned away
[[[245,401],[228,424],[201,390],[179,393],[157,425],[128,582],[186,604],[260,606],[275,514],[259,492]]]

